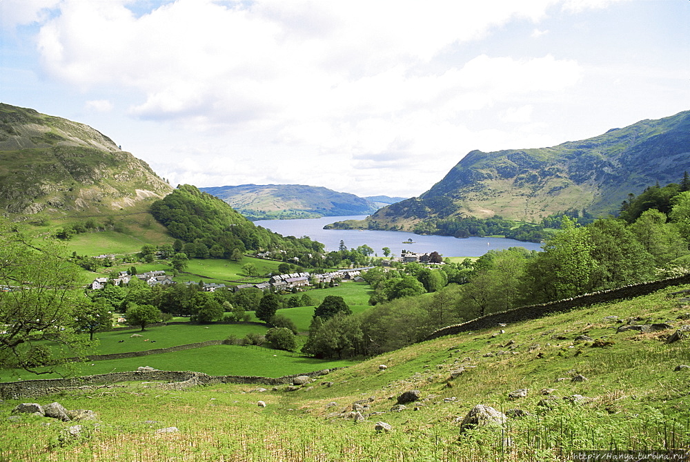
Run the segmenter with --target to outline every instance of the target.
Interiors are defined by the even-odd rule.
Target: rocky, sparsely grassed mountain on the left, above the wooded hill
[[[170,191],[146,162],[94,128],[0,104],[0,211],[110,213]]]

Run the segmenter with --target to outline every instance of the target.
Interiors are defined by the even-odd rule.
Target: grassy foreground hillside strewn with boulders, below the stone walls
[[[82,422],[81,436],[61,441],[74,423],[3,418],[0,460],[522,462],[572,460],[573,450],[687,449],[690,369],[675,369],[690,363],[690,340],[665,342],[690,325],[690,306],[667,296],[678,289],[690,286],[413,345],[297,391],[131,383],[38,398],[94,410],[97,424]],[[619,332],[630,319],[673,329]],[[598,341],[575,340],[583,334]],[[571,381],[575,374],[587,380]],[[420,401],[393,412],[409,389]],[[515,389],[527,396],[509,398]],[[361,400],[366,419],[355,423],[348,412]],[[0,414],[20,401],[32,400],[4,401]],[[477,404],[526,414],[460,434]],[[393,430],[376,432],[377,421]],[[169,427],[177,431],[157,432]]]

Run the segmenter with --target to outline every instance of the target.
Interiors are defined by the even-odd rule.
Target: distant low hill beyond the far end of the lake
[[[366,215],[378,208],[354,194],[304,184],[240,184],[199,190],[224,200],[250,220]]]

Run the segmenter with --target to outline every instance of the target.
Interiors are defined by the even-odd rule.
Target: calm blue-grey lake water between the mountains
[[[382,249],[388,247],[393,256],[400,256],[400,251],[406,249],[417,253],[431,253],[437,251],[444,257],[480,257],[490,250],[501,250],[509,247],[524,247],[529,250],[541,250],[541,244],[534,242],[520,242],[504,238],[462,238],[442,235],[417,235],[403,231],[359,231],[355,229],[323,229],[326,224],[343,220],[363,220],[366,215],[344,217],[323,217],[299,220],[259,220],[257,226],[270,229],[282,235],[293,235],[297,238],[308,236],[312,240],[322,242],[326,251],[339,248],[343,240],[348,249],[360,245],[368,245],[379,256],[383,256]],[[414,244],[403,243],[412,239]]]

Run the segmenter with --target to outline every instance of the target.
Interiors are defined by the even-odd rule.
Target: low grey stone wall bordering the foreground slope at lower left
[[[293,374],[277,378],[259,376],[209,376],[201,372],[147,371],[114,372],[75,378],[44,378],[33,381],[0,383],[0,399],[20,399],[35,396],[59,394],[70,389],[92,389],[106,387],[119,382],[163,382],[163,387],[179,389],[184,386],[209,385],[213,383],[240,383],[247,385],[285,385],[297,376],[320,376],[326,369],[306,374]],[[331,369],[333,370],[333,369]],[[175,386],[175,385],[181,386]],[[186,385],[184,385],[186,384]],[[170,386],[172,385],[172,387]]]

